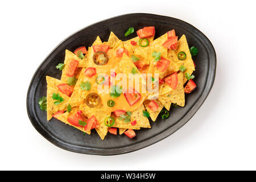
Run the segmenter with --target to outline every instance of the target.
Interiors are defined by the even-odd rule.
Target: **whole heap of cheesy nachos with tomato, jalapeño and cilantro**
[[[144,27],[137,35],[123,42],[110,32],[108,42],[97,36],[88,50],[66,50],[56,66],[60,80],[46,76],[47,96],[39,100],[47,120],[88,135],[95,129],[102,140],[117,131],[134,138],[134,130],[151,128],[149,118],[168,118],[171,104],[184,107],[185,93],[196,88],[197,49],[189,49],[185,35],[178,40],[175,30],[154,39],[155,27]]]

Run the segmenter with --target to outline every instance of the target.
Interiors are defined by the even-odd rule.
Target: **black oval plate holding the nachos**
[[[134,139],[129,139],[125,135],[108,134],[102,141],[95,130],[92,131],[91,135],[84,135],[81,131],[64,125],[57,119],[53,118],[52,121],[47,121],[46,112],[40,110],[38,100],[40,97],[46,96],[46,76],[61,77],[61,72],[57,71],[55,66],[64,61],[65,49],[73,51],[80,46],[89,47],[97,35],[102,41],[108,41],[110,31],[113,31],[119,39],[128,40],[137,36],[136,32],[127,38],[124,36],[129,27],[138,30],[145,26],[155,26],[155,38],[175,29],[179,38],[185,34],[189,47],[196,46],[199,50],[198,55],[193,57],[196,64],[196,72],[193,75],[195,75],[197,88],[185,96],[185,107],[171,108],[170,118],[162,120],[158,117],[156,122],[151,121],[152,128],[137,131],[137,137]],[[124,154],[156,143],[188,122],[207,98],[213,86],[215,72],[216,54],[212,44],[202,32],[191,24],[168,16],[154,14],[135,13],[116,16],[92,24],[69,36],[46,57],[36,70],[28,88],[27,113],[35,129],[49,142],[60,148],[83,154]]]

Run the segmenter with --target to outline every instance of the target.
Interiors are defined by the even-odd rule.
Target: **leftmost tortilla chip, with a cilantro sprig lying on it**
[[[62,97],[64,101],[61,102],[59,105],[54,105],[54,102],[56,102],[56,100],[52,99],[53,93],[59,93],[60,97]],[[64,93],[61,93],[60,90],[57,90],[47,85],[47,121],[49,121],[52,118],[52,115],[57,113],[57,111],[66,110],[68,107],[68,101],[68,96],[66,96]]]

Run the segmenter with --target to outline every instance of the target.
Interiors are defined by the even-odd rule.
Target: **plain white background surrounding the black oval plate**
[[[0,169],[256,169],[254,1],[1,1]],[[199,28],[217,54],[216,80],[194,117],[170,137],[118,156],[62,150],[31,125],[28,85],[67,36],[127,13],[172,16]]]

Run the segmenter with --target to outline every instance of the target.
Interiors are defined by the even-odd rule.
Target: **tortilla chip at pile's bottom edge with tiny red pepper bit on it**
[[[151,128],[150,122],[146,117],[143,116],[143,110],[144,110],[144,106],[141,105],[136,110],[134,110],[133,113],[131,114],[130,120],[131,122],[136,120],[137,121],[136,125],[131,125],[131,122],[124,123],[123,121],[119,120],[113,115],[113,118],[115,118],[115,123],[113,127],[119,127],[122,129],[135,129],[135,130],[140,129],[140,127],[146,127],[150,129]]]

